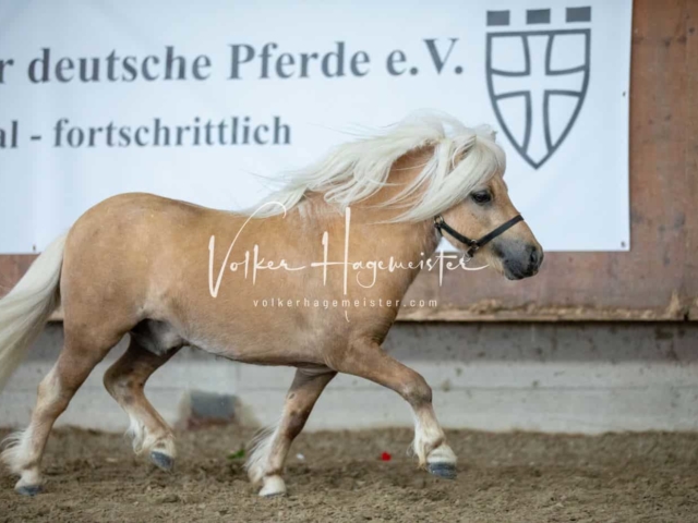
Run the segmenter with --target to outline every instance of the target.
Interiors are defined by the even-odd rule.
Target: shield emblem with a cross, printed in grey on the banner
[[[581,110],[589,86],[591,31],[507,31],[486,38],[494,112],[516,150],[538,169],[569,135]]]

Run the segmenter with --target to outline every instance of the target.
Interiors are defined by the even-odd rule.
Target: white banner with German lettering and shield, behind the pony
[[[0,3],[0,252],[142,191],[236,209],[346,131],[490,123],[547,251],[629,248],[631,0]]]

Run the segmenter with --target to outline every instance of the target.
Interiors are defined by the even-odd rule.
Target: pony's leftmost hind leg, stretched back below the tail
[[[8,438],[2,461],[20,475],[19,494],[34,496],[41,489],[41,457],[56,418],[68,408],[75,391],[120,336],[96,337],[65,330],[65,341],[58,361],[41,380],[36,408],[28,427]]]

